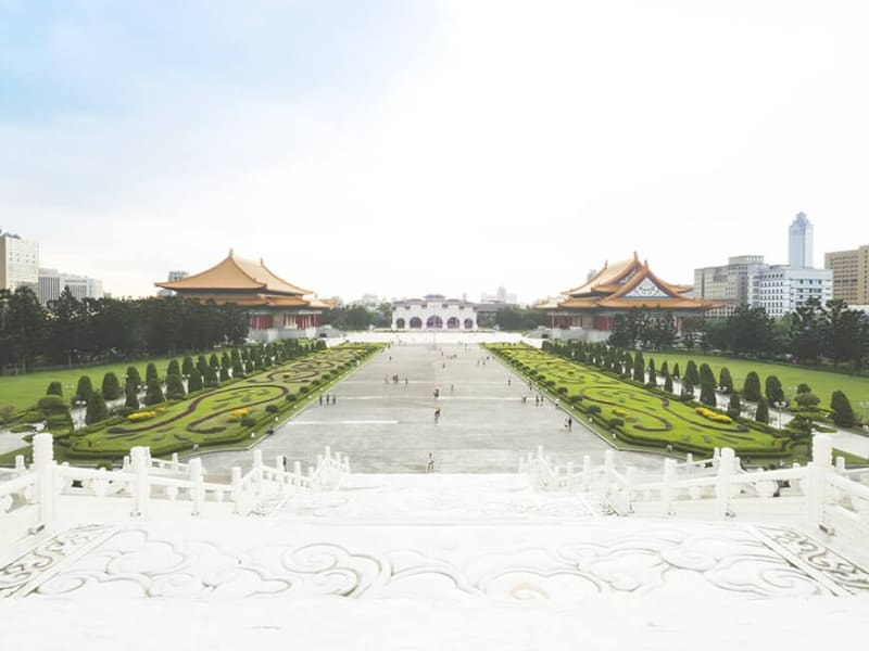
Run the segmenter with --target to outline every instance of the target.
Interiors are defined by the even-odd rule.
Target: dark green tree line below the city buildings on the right
[[[869,315],[841,299],[822,305],[810,298],[778,321],[763,307],[739,307],[727,318],[692,317],[677,332],[672,317],[634,308],[614,319],[608,343],[624,348],[721,350],[758,358],[786,358],[805,365],[829,361],[853,371],[869,362]]]

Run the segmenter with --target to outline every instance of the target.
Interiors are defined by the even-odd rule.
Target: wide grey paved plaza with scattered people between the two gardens
[[[537,407],[528,384],[476,345],[393,345],[330,393],[335,405],[315,400],[260,444],[266,459],[281,454],[306,467],[329,445],[349,455],[353,472],[425,472],[431,452],[436,472],[479,473],[515,472],[539,445],[561,463],[581,463],[583,455],[602,463],[607,449],[580,423],[568,431],[566,413],[549,400]],[[250,459],[216,452],[203,463],[223,473]],[[662,457],[633,452],[619,452],[617,463],[663,468]]]

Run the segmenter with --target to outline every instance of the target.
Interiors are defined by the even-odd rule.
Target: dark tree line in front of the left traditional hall
[[[249,317],[235,304],[180,296],[78,299],[64,288],[40,305],[26,286],[0,291],[0,373],[240,345]]]

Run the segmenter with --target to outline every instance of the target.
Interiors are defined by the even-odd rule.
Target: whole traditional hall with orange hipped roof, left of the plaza
[[[323,312],[331,307],[310,290],[303,290],[275,276],[263,263],[237,257],[232,250],[211,269],[175,281],[154,283],[180,296],[235,303],[250,316],[249,337],[275,341],[315,336],[323,324]]]

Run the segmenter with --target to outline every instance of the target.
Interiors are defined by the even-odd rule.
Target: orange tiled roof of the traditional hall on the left
[[[159,288],[189,294],[196,290],[257,290],[275,294],[304,296],[312,294],[275,276],[260,259],[259,263],[229,255],[214,267],[174,282],[155,282]]]

